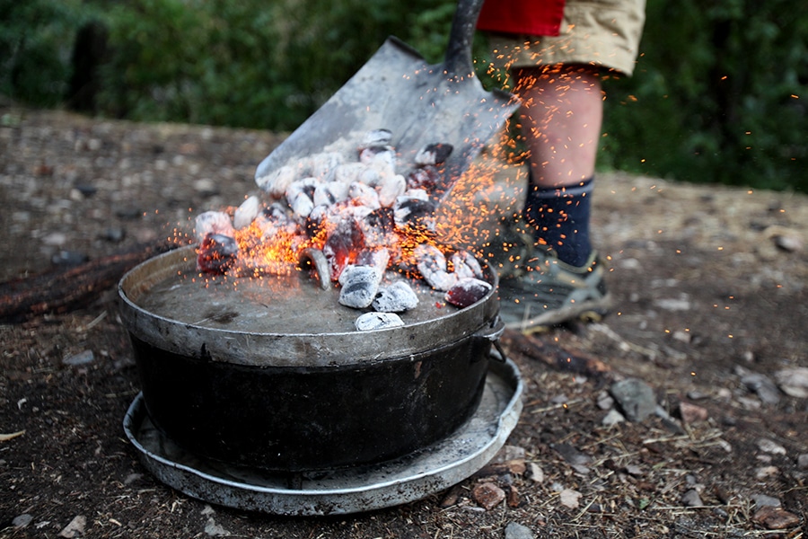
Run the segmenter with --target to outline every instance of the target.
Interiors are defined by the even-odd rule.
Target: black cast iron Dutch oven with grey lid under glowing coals
[[[476,411],[502,332],[493,271],[492,291],[476,304],[438,309],[422,300],[426,312],[377,331],[335,330],[336,296],[296,272],[299,288],[287,296],[314,298],[300,307],[308,329],[275,332],[264,314],[250,319],[271,300],[250,306],[246,284],[239,293],[201,286],[195,258],[193,246],[164,253],[119,284],[146,410],[185,449],[273,471],[376,464],[435,443]],[[166,300],[171,315],[143,306],[178,275],[191,291]],[[206,302],[216,305],[210,313]],[[320,324],[328,329],[311,331]]]

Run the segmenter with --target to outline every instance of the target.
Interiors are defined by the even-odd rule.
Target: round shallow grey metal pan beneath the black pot
[[[382,464],[333,472],[268,473],[210,461],[163,436],[138,394],[124,418],[149,472],[190,497],[275,515],[337,515],[388,508],[444,490],[496,455],[522,413],[523,383],[510,360],[489,362],[477,412],[444,440]]]

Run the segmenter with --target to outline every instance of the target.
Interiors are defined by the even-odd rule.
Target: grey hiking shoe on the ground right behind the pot
[[[525,333],[575,319],[601,320],[611,304],[605,273],[596,252],[581,268],[559,261],[551,251],[534,252],[500,280],[500,317],[506,328]]]

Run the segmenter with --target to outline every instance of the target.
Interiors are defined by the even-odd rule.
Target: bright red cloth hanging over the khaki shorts
[[[558,36],[565,0],[486,0],[477,28],[485,31]]]

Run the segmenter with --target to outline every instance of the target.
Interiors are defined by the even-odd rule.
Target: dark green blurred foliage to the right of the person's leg
[[[634,78],[607,84],[602,163],[808,190],[808,4],[651,2]]]

